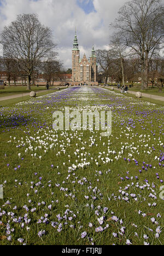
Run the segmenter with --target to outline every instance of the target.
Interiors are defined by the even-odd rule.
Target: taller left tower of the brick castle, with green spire
[[[72,82],[78,82],[79,58],[80,58],[80,51],[79,51],[77,34],[75,33],[73,49],[72,49]]]

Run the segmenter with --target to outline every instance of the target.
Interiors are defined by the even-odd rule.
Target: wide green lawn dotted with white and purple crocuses
[[[112,110],[112,135],[55,131],[65,107]],[[85,87],[2,107],[0,245],[163,245],[163,109]]]

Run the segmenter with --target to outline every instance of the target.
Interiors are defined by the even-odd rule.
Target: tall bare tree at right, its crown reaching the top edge
[[[120,10],[111,27],[124,37],[124,43],[140,56],[142,89],[148,85],[148,66],[163,40],[164,8],[161,0],[132,0]]]

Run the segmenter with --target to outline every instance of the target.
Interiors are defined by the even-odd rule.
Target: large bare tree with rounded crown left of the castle
[[[37,14],[20,14],[1,33],[4,57],[17,62],[17,71],[27,79],[27,90],[40,60],[46,59],[56,44],[50,28],[40,24]]]

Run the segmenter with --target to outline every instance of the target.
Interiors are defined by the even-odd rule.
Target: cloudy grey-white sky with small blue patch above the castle
[[[162,0],[163,2],[164,0]],[[77,28],[80,56],[89,58],[92,45],[107,49],[110,22],[127,0],[0,0],[0,30],[17,14],[37,13],[53,31],[54,43],[65,68],[72,67],[72,45]]]

